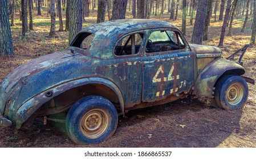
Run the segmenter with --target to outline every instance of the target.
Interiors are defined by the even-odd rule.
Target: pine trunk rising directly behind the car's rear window
[[[68,43],[74,39],[74,36],[82,30],[83,21],[83,1],[70,0],[70,34],[68,36]]]

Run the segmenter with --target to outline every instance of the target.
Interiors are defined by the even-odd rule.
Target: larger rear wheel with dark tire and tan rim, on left
[[[92,95],[80,99],[70,108],[66,130],[76,144],[95,144],[111,137],[117,122],[113,104],[108,99]]]

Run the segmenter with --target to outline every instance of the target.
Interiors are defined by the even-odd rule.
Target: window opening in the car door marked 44
[[[185,44],[176,31],[154,31],[148,38],[146,52],[164,52],[184,49]]]

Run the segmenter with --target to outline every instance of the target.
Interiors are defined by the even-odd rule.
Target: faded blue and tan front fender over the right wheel
[[[222,75],[235,74],[241,76],[244,73],[245,69],[243,66],[224,58],[217,58],[206,65],[198,75],[193,94],[212,97],[213,87]]]

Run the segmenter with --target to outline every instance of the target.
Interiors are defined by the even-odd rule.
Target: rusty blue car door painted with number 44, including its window
[[[142,57],[143,102],[187,93],[193,85],[193,58],[176,29],[151,30]]]

